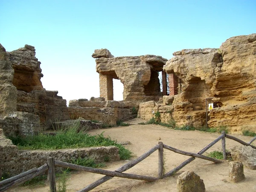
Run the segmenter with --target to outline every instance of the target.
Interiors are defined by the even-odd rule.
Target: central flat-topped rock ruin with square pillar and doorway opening
[[[163,70],[166,61],[167,59],[156,55],[97,57],[100,96],[113,100],[113,79],[120,79],[124,85],[125,101],[158,101],[163,94],[160,92],[157,72]]]

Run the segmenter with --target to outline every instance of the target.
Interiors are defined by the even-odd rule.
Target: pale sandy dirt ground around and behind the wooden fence
[[[128,122],[137,123],[140,119],[133,119]],[[198,153],[206,145],[215,140],[220,134],[218,133],[205,133],[200,131],[179,131],[171,130],[160,125],[130,125],[127,127],[115,127],[108,129],[92,130],[89,133],[92,135],[100,134],[104,131],[105,136],[118,142],[129,141],[131,144],[125,145],[133,152],[131,160],[139,157],[159,141],[166,145],[178,148],[183,151]],[[235,135],[245,142],[249,142],[252,137],[245,137]],[[239,143],[226,138],[226,148],[230,149]],[[221,141],[216,143],[207,152],[221,151]],[[206,154],[206,153],[204,153]],[[176,154],[172,151],[164,149],[165,170],[169,172],[171,169],[178,166],[188,156]],[[104,169],[116,170],[120,166],[127,163],[128,160],[121,160],[118,162],[108,162]],[[114,177],[111,180],[103,183],[102,185],[93,189],[93,192],[176,192],[177,177],[184,171],[192,170],[204,180],[207,192],[255,192],[256,191],[256,170],[247,169],[244,167],[245,180],[240,183],[231,183],[228,180],[229,163],[215,164],[207,160],[196,158],[194,161],[186,165],[183,169],[178,171],[175,175],[167,177],[155,182],[147,182],[141,180],[132,180],[126,178]],[[133,173],[137,175],[147,175],[157,177],[158,171],[158,152],[155,151],[148,158],[132,167],[126,173]],[[68,179],[68,191],[75,192],[84,188],[90,183],[98,180],[104,175],[75,172]],[[49,185],[38,188],[19,187],[10,192],[46,192],[49,191]]]

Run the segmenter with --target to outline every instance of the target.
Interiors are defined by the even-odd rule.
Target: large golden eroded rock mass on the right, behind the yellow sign
[[[163,70],[177,94],[172,117],[179,125],[205,125],[205,99],[215,103],[209,127],[256,131],[256,34],[233,37],[220,49],[183,49]],[[170,78],[171,77],[171,78]],[[173,85],[175,84],[175,85]],[[176,93],[177,92],[177,93]],[[217,101],[217,100],[218,101]]]

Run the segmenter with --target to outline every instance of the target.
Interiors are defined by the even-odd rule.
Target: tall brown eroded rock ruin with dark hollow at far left
[[[35,47],[6,52],[0,45],[0,126],[8,136],[34,134],[52,128],[57,119],[69,119],[66,100],[42,86],[40,64]]]

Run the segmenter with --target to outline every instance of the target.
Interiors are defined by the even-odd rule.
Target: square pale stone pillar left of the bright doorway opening
[[[99,74],[100,97],[106,100],[113,100],[113,78],[112,76]]]

